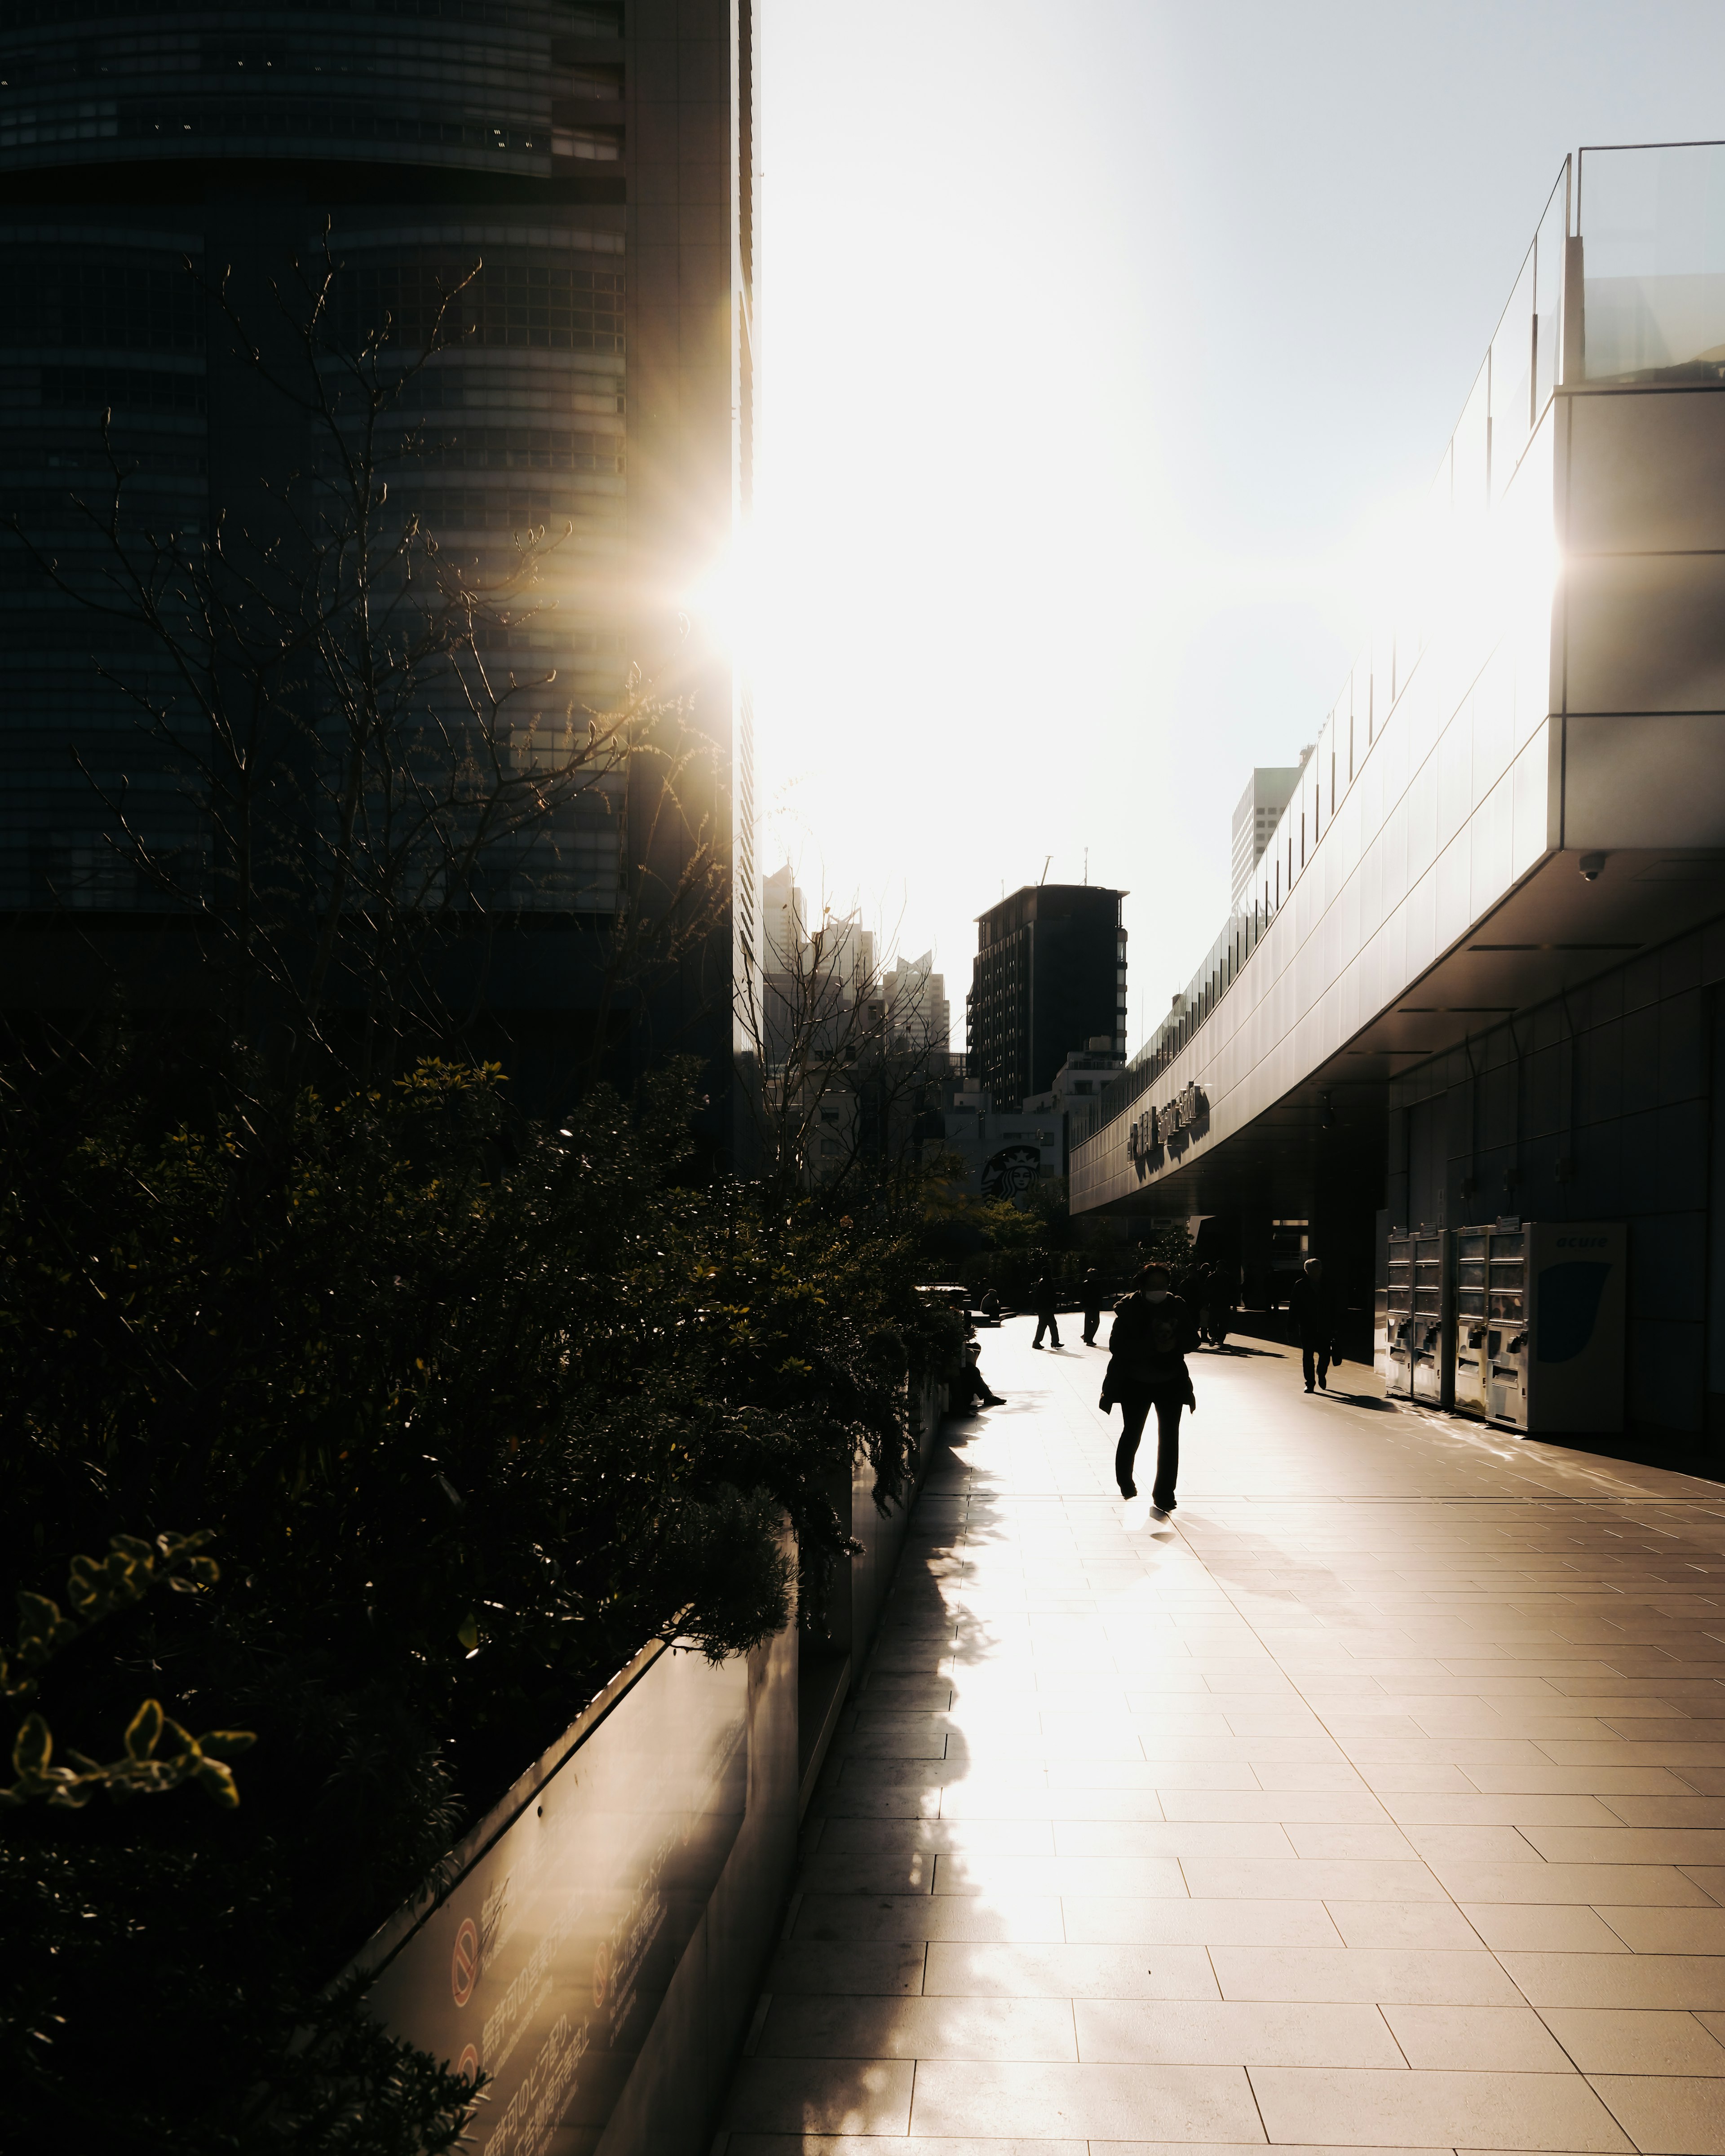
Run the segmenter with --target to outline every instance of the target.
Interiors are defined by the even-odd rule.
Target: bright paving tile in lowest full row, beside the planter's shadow
[[[916,2070],[912,2126],[921,2134],[985,2134],[992,2126],[1048,2139],[1151,2137],[1261,2147],[1253,2089],[1238,2065],[970,2065],[936,2059]]]

